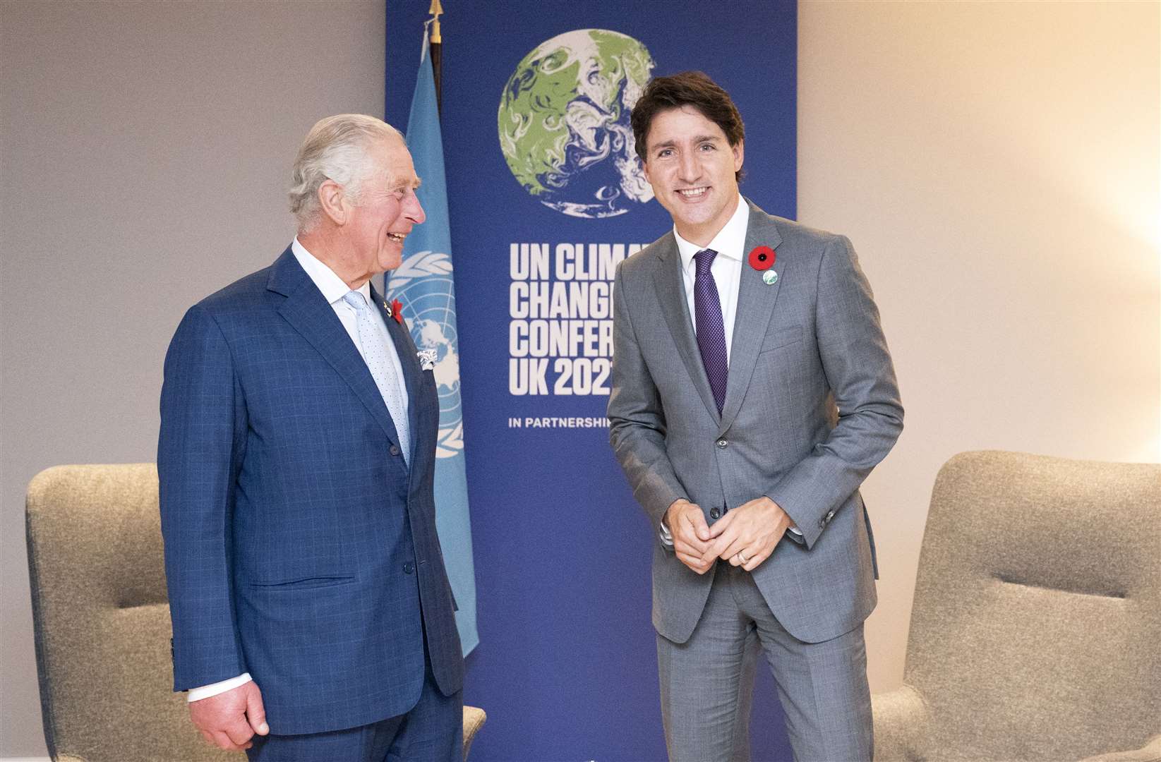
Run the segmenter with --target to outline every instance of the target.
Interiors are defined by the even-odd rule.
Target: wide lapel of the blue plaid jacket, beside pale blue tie
[[[398,445],[399,434],[391,423],[383,395],[375,385],[370,371],[367,370],[362,355],[351,341],[339,317],[334,314],[334,309],[323,298],[323,293],[315,286],[289,248],[282,252],[282,256],[271,269],[266,288],[286,297],[286,302],[279,307],[279,313],[326,358],[383,427],[388,438]],[[402,353],[399,360],[404,360]]]

